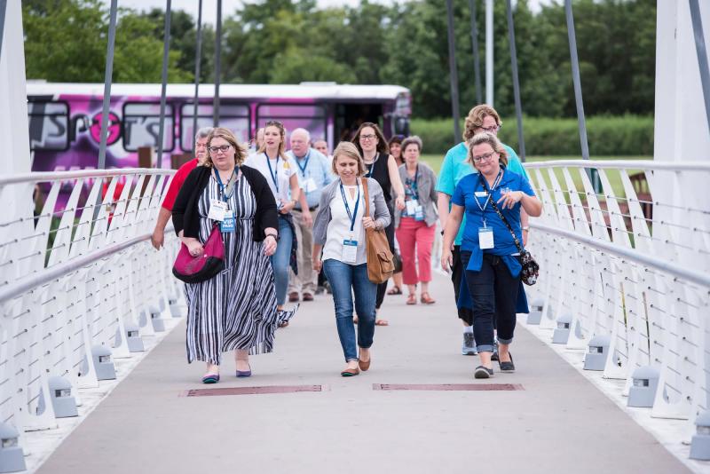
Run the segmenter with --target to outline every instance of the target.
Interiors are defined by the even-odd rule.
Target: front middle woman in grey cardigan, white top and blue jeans
[[[340,374],[347,377],[370,367],[377,285],[367,278],[365,229],[390,225],[390,211],[382,187],[375,179],[367,178],[371,216],[364,217],[365,190],[360,177],[366,168],[357,147],[348,142],[338,145],[332,166],[340,179],[326,186],[320,196],[320,211],[313,224],[313,270],[319,272],[322,266],[333,289],[338,336],[347,363]],[[352,322],[353,292],[359,318],[357,345]]]

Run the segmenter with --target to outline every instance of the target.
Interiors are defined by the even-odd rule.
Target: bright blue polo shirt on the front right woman
[[[528,180],[522,175],[519,175],[509,170],[503,170],[501,182],[494,187],[490,198],[484,197],[485,186],[481,183],[478,173],[468,175],[459,181],[459,184],[454,190],[454,195],[451,197],[451,202],[457,206],[465,208],[466,225],[463,226],[463,241],[461,241],[461,251],[471,252],[469,266],[466,270],[478,272],[481,269],[483,254],[490,253],[501,256],[502,260],[508,265],[510,274],[516,277],[520,273],[520,263],[513,254],[518,253],[513,236],[510,235],[508,227],[503,224],[501,217],[493,209],[493,205],[486,201],[493,199],[498,204],[501,199],[501,188],[509,188],[510,191],[522,191],[523,193],[534,196],[535,192],[528,183]],[[478,193],[478,195],[477,195]],[[482,210],[483,208],[483,210]],[[511,209],[502,209],[501,204],[498,204],[498,209],[508,220],[509,225],[516,233],[518,241],[522,243],[523,232],[520,227],[520,202]],[[485,225],[484,225],[485,223]],[[493,230],[493,249],[481,249],[478,245],[478,229],[480,227],[488,227]]]

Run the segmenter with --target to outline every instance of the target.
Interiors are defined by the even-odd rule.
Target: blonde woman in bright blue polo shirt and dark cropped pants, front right
[[[516,327],[521,270],[513,235],[495,208],[500,210],[518,241],[523,241],[520,207],[528,215],[538,217],[542,204],[527,179],[505,169],[508,156],[492,133],[479,133],[471,138],[468,161],[478,172],[462,178],[451,198],[441,266],[448,270],[454,264],[451,247],[465,209],[461,263],[466,268],[466,283],[473,299],[473,333],[481,361],[474,376],[488,378],[493,376],[493,318],[497,321],[501,372],[515,371],[509,345]]]

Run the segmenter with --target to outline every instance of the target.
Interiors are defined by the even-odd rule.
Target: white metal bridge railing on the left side
[[[75,389],[111,378],[112,357],[179,315],[170,225],[167,250],[148,242],[173,172],[0,177],[0,423],[56,426]]]

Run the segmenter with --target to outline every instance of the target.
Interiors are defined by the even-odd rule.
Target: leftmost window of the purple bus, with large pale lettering
[[[28,102],[29,148],[69,149],[69,106],[66,102]]]

